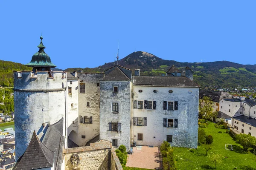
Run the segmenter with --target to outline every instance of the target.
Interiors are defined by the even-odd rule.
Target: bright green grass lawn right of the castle
[[[220,170],[232,170],[237,167],[239,170],[256,170],[256,156],[252,153],[252,148],[248,152],[242,151],[242,146],[237,144],[235,140],[228,134],[226,130],[214,127],[214,123],[208,122],[207,128],[203,128],[207,135],[213,136],[213,146],[209,153],[219,153],[222,156],[222,163],[216,164],[216,168]],[[222,131],[223,133],[218,133]],[[232,150],[226,150],[225,144],[232,144]],[[178,170],[204,170],[214,169],[212,163],[207,156],[204,146],[198,146],[198,149],[192,153],[187,148],[174,148],[175,164]],[[255,168],[255,169],[250,169]]]

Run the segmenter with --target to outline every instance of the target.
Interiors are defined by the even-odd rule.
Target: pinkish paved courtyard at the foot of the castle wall
[[[133,151],[132,155],[128,154],[127,167],[159,168],[158,147],[137,146]]]

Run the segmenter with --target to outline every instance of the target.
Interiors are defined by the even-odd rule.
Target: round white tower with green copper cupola
[[[67,76],[63,71],[52,71],[56,66],[44,52],[43,37],[39,51],[26,66],[32,71],[14,72],[15,147],[16,160],[25,152],[32,134],[44,136],[47,125],[63,119],[66,138]]]

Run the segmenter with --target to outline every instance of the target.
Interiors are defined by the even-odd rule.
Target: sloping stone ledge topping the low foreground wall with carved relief
[[[91,143],[90,146],[73,147],[73,148],[64,149],[63,153],[77,153],[77,152],[111,149],[111,148],[112,148],[111,142],[100,140],[99,142]]]

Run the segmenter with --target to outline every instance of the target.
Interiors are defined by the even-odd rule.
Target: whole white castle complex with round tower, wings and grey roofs
[[[163,140],[197,147],[199,86],[189,67],[173,65],[164,76],[140,76],[118,63],[104,73],[52,71],[40,39],[26,64],[32,71],[14,71],[15,170],[65,169],[64,148],[99,140],[127,150]],[[41,163],[28,161],[35,154]]]

